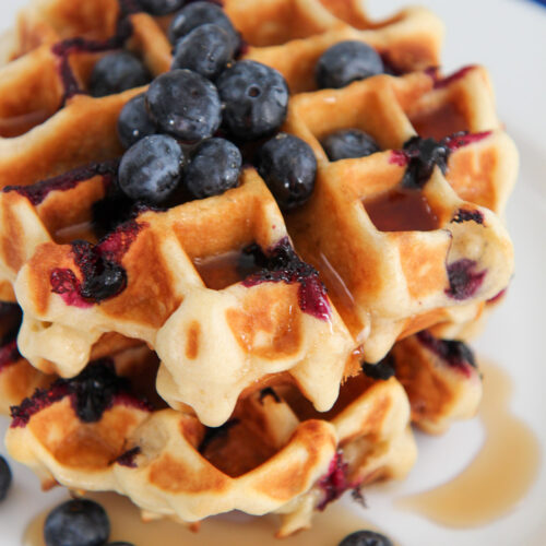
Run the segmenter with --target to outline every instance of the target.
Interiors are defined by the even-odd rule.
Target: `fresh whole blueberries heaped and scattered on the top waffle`
[[[306,142],[278,132],[289,96],[282,74],[256,61],[236,60],[240,36],[216,3],[138,2],[154,15],[181,9],[168,33],[171,70],[153,80],[119,117],[118,133],[127,149],[118,171],[121,192],[132,202],[155,206],[216,195],[238,185],[245,157],[281,209],[305,203],[314,187],[317,161]],[[373,48],[344,41],[322,55],[316,78],[319,87],[342,87],[383,71]],[[150,80],[139,59],[119,51],[95,66],[91,94],[119,93]],[[330,134],[323,146],[331,161],[379,150],[356,129]]]

